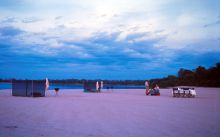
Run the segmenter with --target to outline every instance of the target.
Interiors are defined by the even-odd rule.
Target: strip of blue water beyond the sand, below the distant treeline
[[[11,83],[0,83],[0,89],[11,89]],[[72,84],[50,84],[49,89],[60,88],[60,89],[83,89],[83,85],[72,85]],[[104,89],[113,88],[113,89],[144,89],[144,85],[104,85]]]

